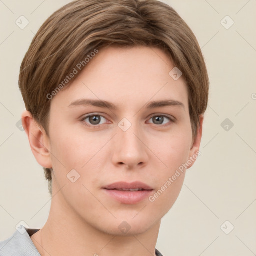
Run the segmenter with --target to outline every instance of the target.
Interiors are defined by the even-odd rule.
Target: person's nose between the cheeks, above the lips
[[[113,141],[113,164],[125,165],[128,169],[145,166],[149,159],[145,140],[145,135],[138,125],[132,124],[126,131],[117,127]]]

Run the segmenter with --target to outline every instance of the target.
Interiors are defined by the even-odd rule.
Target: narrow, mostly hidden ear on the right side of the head
[[[192,167],[195,160],[199,155],[201,155],[201,152],[199,151],[201,138],[202,138],[202,123],[203,123],[203,114],[199,115],[199,125],[197,127],[197,133],[196,136],[192,142],[191,149],[189,152],[189,159],[187,160],[187,163],[189,164],[188,168]]]

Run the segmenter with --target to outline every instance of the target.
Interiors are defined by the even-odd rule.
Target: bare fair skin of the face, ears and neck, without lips
[[[173,67],[158,48],[100,49],[72,84],[51,99],[48,135],[30,112],[23,112],[37,162],[53,168],[49,217],[31,236],[41,255],[155,255],[161,218],[177,199],[185,171],[153,202],[120,203],[102,187],[142,181],[154,189],[153,195],[199,150],[203,116],[193,139],[187,87],[182,76],[175,81],[169,75]],[[107,100],[117,109],[69,107],[82,98]],[[183,106],[145,107],[166,99]],[[84,118],[88,114],[100,115],[100,123],[93,127]],[[162,114],[172,120],[152,118]],[[123,118],[131,123],[126,131],[118,127]],[[74,183],[67,178],[72,169],[80,175]],[[130,226],[127,233],[118,228],[123,221]]]

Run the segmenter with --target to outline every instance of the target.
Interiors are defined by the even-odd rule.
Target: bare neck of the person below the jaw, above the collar
[[[56,207],[53,201],[49,217],[34,242],[42,256],[155,256],[160,221],[143,233],[121,234],[101,230],[86,222],[68,207]],[[65,214],[63,214],[65,212]]]

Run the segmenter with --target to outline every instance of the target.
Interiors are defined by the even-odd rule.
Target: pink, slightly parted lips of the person
[[[136,204],[152,193],[153,188],[145,183],[135,181],[131,183],[127,182],[115,182],[109,185],[106,185],[103,188],[103,191],[113,199],[124,203],[124,204]],[[121,191],[116,189],[143,189],[139,191]]]

